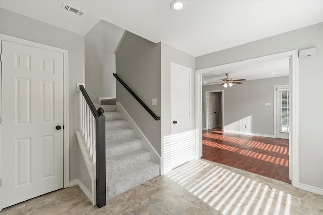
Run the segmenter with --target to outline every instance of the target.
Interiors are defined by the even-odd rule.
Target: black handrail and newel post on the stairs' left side
[[[95,116],[95,150],[96,150],[96,206],[101,208],[106,205],[106,163],[105,163],[105,116],[104,110],[95,106],[87,94],[83,85],[80,91],[89,106],[93,116]],[[94,196],[93,196],[94,197]]]

